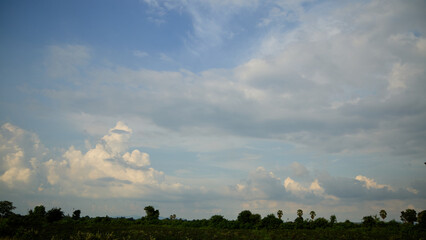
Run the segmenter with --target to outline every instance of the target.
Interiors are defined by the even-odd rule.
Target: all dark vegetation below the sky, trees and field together
[[[261,218],[259,214],[244,210],[236,220],[221,215],[209,219],[184,220],[160,219],[160,212],[153,206],[144,208],[146,215],[140,219],[105,217],[81,217],[81,211],[65,215],[61,208],[46,211],[40,205],[27,215],[14,214],[11,202],[0,202],[0,239],[424,239],[426,236],[426,211],[416,215],[413,209],[401,212],[403,223],[385,222],[384,210],[380,218],[365,216],[362,223],[349,220],[337,222],[316,217],[303,219],[303,211],[297,210],[292,222],[281,220],[282,210]],[[413,217],[414,213],[414,217]],[[416,222],[418,221],[418,223]]]

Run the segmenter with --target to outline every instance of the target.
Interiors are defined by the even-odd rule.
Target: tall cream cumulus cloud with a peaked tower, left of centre
[[[62,160],[45,163],[48,182],[63,194],[86,197],[136,197],[151,188],[179,189],[180,184],[165,183],[164,173],[149,167],[147,153],[137,149],[125,151],[131,133],[132,129],[118,122],[86,153],[70,147]]]

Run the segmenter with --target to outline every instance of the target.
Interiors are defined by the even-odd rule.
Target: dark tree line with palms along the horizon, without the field
[[[34,207],[28,211],[27,215],[15,214],[12,202],[0,201],[0,237],[14,236],[17,232],[41,231],[49,224],[61,223],[75,226],[90,225],[158,225],[190,228],[216,228],[216,229],[372,229],[377,227],[399,229],[401,226],[413,226],[424,231],[426,229],[426,210],[417,213],[414,209],[406,209],[401,212],[401,221],[391,220],[386,222],[387,213],[381,210],[378,215],[365,216],[361,223],[353,223],[349,220],[337,222],[335,215],[329,219],[316,217],[315,211],[309,212],[309,217],[303,217],[303,210],[296,211],[297,217],[293,221],[283,221],[283,210],[278,210],[276,215],[271,213],[265,217],[252,213],[250,210],[241,211],[236,220],[228,220],[222,215],[213,215],[209,219],[186,220],[177,218],[176,214],[169,218],[160,219],[160,211],[153,206],[146,206],[145,216],[139,219],[134,218],[112,218],[81,216],[80,210],[74,210],[72,215],[65,215],[61,208],[46,210],[43,205]]]

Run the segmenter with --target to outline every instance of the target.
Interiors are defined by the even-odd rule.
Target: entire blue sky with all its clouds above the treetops
[[[0,1],[0,200],[426,209],[422,0]]]

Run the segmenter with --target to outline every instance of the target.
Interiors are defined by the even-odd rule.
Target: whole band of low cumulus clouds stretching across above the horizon
[[[294,174],[300,181],[285,175],[280,178],[272,171],[258,167],[246,179],[233,185],[210,188],[194,183],[193,186],[185,186],[176,182],[177,178],[169,178],[150,167],[148,153],[138,149],[128,151],[131,133],[132,129],[126,124],[117,122],[86,152],[71,146],[64,150],[62,156],[48,158],[48,155],[54,154],[43,147],[37,135],[6,123],[0,135],[2,191],[97,201],[165,201],[172,206],[190,204],[198,206],[198,210],[205,208],[202,211],[204,214],[212,213],[212,208],[227,214],[236,214],[241,208],[267,213],[276,207],[292,204],[305,208],[324,205],[338,209],[345,204],[366,204],[371,201],[399,201],[399,207],[404,202],[421,201],[426,196],[421,183],[413,182],[406,188],[397,188],[362,175],[353,178],[327,174],[315,176],[297,162],[291,164],[289,169],[299,170]],[[219,205],[223,202],[230,204],[222,207],[211,203],[208,206],[199,205],[212,200]],[[389,204],[398,211],[395,204]]]

